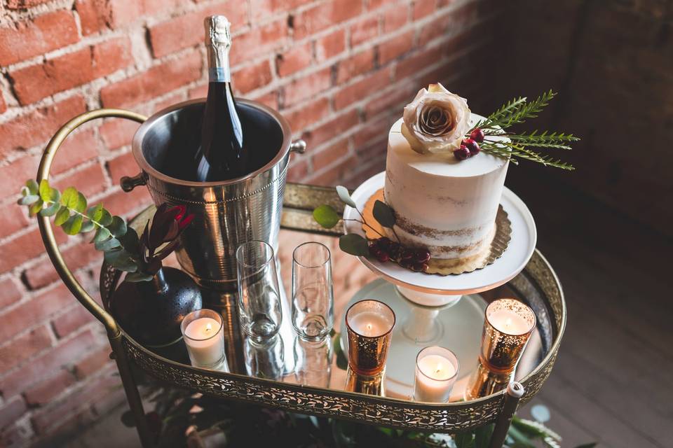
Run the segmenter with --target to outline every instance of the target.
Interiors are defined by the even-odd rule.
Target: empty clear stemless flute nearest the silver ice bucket
[[[273,247],[248,241],[236,249],[240,326],[254,341],[276,335],[283,320]]]

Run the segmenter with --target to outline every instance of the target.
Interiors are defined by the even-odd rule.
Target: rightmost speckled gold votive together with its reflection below
[[[515,299],[499,299],[486,308],[479,366],[465,399],[490,395],[509,383],[536,325],[535,313]]]

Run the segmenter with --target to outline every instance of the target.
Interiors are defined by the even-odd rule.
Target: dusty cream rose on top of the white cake
[[[430,84],[405,106],[402,134],[417,153],[436,153],[458,148],[470,130],[470,109],[465,98]]]

